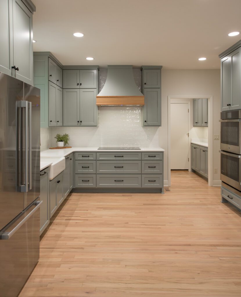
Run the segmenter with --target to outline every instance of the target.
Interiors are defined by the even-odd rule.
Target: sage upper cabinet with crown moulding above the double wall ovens
[[[241,42],[219,55],[221,58],[221,110],[241,109]]]

